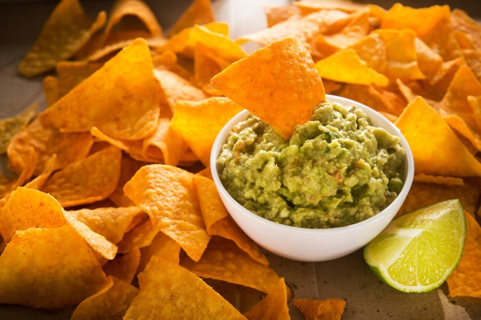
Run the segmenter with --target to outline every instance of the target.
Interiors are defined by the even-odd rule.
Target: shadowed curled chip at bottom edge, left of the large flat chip
[[[98,293],[80,302],[70,319],[123,319],[137,293],[139,293],[139,289],[135,286],[109,276],[106,284]]]

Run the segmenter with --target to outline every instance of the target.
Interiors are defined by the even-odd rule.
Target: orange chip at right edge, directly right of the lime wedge
[[[465,249],[456,269],[447,278],[449,297],[481,297],[481,227],[465,212],[467,231]]]

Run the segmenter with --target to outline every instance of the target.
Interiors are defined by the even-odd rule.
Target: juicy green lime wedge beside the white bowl
[[[458,266],[466,218],[458,199],[403,214],[364,247],[364,260],[385,284],[408,293],[438,288]]]

